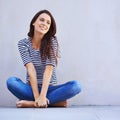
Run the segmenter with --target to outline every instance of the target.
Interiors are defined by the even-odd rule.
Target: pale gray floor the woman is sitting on
[[[0,120],[120,120],[120,106],[1,107]]]

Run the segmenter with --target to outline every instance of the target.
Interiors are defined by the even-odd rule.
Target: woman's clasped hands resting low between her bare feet
[[[40,96],[35,100],[35,103],[36,103],[36,107],[47,108],[49,104],[49,100],[46,97]]]

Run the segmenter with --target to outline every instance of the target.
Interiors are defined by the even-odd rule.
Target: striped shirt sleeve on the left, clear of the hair
[[[32,62],[32,60],[30,58],[29,47],[23,40],[20,40],[18,42],[18,49],[19,49],[24,66],[27,63]]]

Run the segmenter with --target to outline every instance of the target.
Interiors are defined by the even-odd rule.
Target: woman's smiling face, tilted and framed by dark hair
[[[51,25],[50,16],[46,13],[42,13],[33,23],[34,32],[45,35],[49,31],[50,25]]]

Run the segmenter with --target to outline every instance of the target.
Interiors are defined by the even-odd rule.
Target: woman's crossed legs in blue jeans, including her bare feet
[[[7,80],[8,89],[20,101],[16,103],[17,107],[35,107],[34,96],[31,86],[24,83],[17,77],[10,77]],[[41,86],[39,86],[39,90]],[[50,101],[50,107],[67,107],[67,99],[75,96],[81,91],[81,86],[77,81],[70,81],[62,85],[49,86],[47,98]]]

